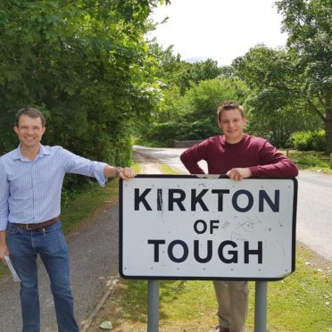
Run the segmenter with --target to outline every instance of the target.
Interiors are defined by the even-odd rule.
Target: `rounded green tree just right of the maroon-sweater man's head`
[[[251,133],[286,146],[295,131],[320,128],[319,117],[308,111],[303,100],[303,73],[294,52],[255,46],[233,66],[237,77],[251,87],[245,103]]]

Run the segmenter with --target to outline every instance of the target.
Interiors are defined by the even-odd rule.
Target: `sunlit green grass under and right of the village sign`
[[[323,332],[332,327],[332,282],[328,273],[307,264],[312,253],[298,248],[295,273],[268,284],[268,330]],[[248,331],[254,328],[254,283],[250,282]],[[160,282],[160,330],[208,331],[217,324],[217,303],[212,281]],[[147,281],[120,280],[90,332],[104,320],[114,331],[145,331]]]

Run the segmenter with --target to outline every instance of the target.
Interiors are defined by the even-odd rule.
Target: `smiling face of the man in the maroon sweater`
[[[227,110],[220,113],[218,126],[222,130],[226,142],[235,144],[241,141],[244,136],[245,118],[239,110]]]

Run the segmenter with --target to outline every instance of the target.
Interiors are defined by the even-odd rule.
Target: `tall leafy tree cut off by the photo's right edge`
[[[281,0],[287,46],[302,71],[301,95],[306,107],[324,122],[327,152],[332,152],[332,6],[329,0]]]

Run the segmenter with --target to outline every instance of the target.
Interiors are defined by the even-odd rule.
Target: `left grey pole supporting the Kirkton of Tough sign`
[[[148,280],[147,332],[159,330],[159,280]]]

